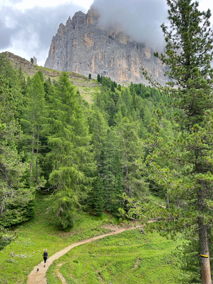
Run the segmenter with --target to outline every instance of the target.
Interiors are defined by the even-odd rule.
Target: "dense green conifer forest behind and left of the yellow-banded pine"
[[[149,186],[138,172],[137,160],[145,155],[140,138],[149,132],[154,110],[167,112],[163,104],[169,97],[143,84],[119,91],[110,78],[101,76],[101,81],[89,106],[68,73],[51,82],[38,71],[25,80],[21,68],[14,70],[1,55],[1,113],[8,114],[7,120],[1,118],[2,143],[8,143],[4,174],[14,183],[7,199],[2,193],[3,227],[31,217],[35,191],[54,200],[49,210],[61,228],[72,225],[81,210],[122,216],[124,193],[149,198]],[[170,122],[162,120],[161,135],[174,135]],[[10,164],[12,159],[16,164]],[[13,195],[15,207],[9,203]]]

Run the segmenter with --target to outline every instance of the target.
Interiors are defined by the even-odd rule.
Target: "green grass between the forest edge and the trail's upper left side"
[[[41,262],[45,248],[51,256],[72,243],[109,232],[99,226],[117,223],[117,219],[106,214],[102,217],[84,215],[73,228],[59,231],[51,225],[50,216],[45,213],[47,207],[45,198],[40,197],[35,217],[18,226],[18,239],[0,252],[0,283],[3,280],[7,280],[2,282],[7,284],[26,283],[30,271]]]

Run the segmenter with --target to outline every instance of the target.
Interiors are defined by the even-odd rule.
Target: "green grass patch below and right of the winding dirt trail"
[[[67,284],[179,283],[171,253],[175,247],[157,233],[125,231],[73,248],[49,267],[47,282],[62,284],[60,271]]]

